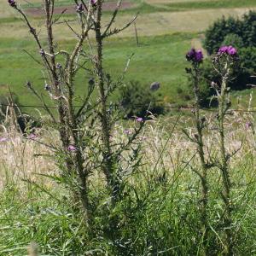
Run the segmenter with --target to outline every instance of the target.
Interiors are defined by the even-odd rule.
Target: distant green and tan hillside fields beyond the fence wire
[[[32,1],[38,5],[39,1]],[[1,0],[0,10],[0,94],[8,92],[8,86],[19,96],[21,104],[36,104],[37,100],[26,90],[26,81],[32,81],[38,90],[43,91],[44,80],[40,67],[24,50],[39,58],[38,49],[32,42],[31,35],[20,20],[19,15],[9,8],[6,1]],[[66,6],[72,1],[58,1],[59,6]],[[31,4],[20,2],[27,9]],[[183,102],[177,96],[177,88],[186,88],[184,67],[186,51],[195,46],[201,48],[203,32],[213,20],[222,15],[241,16],[247,7],[256,8],[255,1],[132,1],[133,9],[123,10],[115,26],[122,26],[131,19],[132,14],[140,11],[137,18],[139,47],[137,47],[134,27],[105,43],[104,65],[113,78],[125,68],[131,54],[131,60],[125,83],[137,80],[143,86],[154,81],[161,83],[160,100],[165,102]],[[67,15],[67,19],[73,15]],[[110,12],[106,11],[103,19],[109,20]],[[33,26],[40,29],[44,39],[44,21],[40,16],[31,16]],[[72,23],[74,29],[76,26]],[[60,49],[71,49],[74,43],[73,33],[66,25],[55,26],[55,39]],[[76,81],[80,94],[86,84],[86,74],[80,73]],[[244,97],[249,95],[247,90]],[[245,100],[246,102],[247,100]]]

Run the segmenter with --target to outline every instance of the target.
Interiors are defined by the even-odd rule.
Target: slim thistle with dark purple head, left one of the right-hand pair
[[[208,239],[208,181],[207,181],[207,171],[211,168],[211,165],[207,162],[204,152],[204,137],[203,130],[206,126],[206,118],[201,115],[200,110],[200,65],[203,61],[203,54],[201,50],[190,49],[186,55],[187,61],[191,63],[190,68],[186,68],[186,72],[189,73],[193,81],[194,89],[194,109],[192,111],[195,120],[195,135],[191,137],[186,130],[183,130],[189,140],[196,144],[197,154],[199,155],[201,170],[196,170],[191,166],[191,169],[200,177],[201,180],[201,224],[202,224],[202,236],[203,236],[203,246],[205,254],[207,255],[207,239]]]

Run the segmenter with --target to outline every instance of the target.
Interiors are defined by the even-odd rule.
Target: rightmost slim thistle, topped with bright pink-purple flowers
[[[237,51],[232,46],[222,46],[218,49],[217,55],[212,60],[215,70],[219,73],[222,78],[221,85],[218,87],[218,84],[212,83],[213,88],[216,90],[218,98],[218,137],[219,137],[219,151],[220,151],[220,160],[217,161],[216,165],[222,175],[223,191],[221,192],[222,199],[224,201],[224,232],[225,232],[225,241],[226,255],[233,255],[234,250],[234,236],[232,234],[232,198],[231,198],[231,189],[232,183],[230,180],[230,158],[231,154],[228,153],[225,142],[225,127],[224,120],[229,112],[231,103],[229,99],[229,90],[228,83],[231,79],[232,67],[234,67],[239,58]]]

